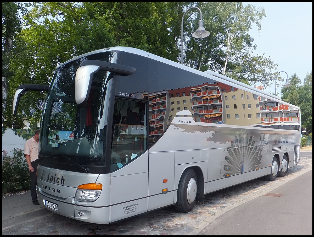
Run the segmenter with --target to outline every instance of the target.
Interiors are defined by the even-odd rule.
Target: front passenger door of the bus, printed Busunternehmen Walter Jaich
[[[110,223],[148,208],[147,103],[116,98],[111,144]]]

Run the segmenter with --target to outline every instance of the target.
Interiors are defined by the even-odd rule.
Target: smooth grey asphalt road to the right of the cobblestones
[[[198,235],[312,235],[312,170],[270,194],[224,213]]]

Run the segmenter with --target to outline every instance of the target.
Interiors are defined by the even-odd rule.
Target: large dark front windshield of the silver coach
[[[81,57],[59,66],[55,72],[44,105],[40,141],[41,158],[53,162],[55,168],[106,166],[106,101],[113,73],[100,70],[93,74],[88,100],[79,105],[75,102],[74,82],[82,61],[112,62],[115,54]]]

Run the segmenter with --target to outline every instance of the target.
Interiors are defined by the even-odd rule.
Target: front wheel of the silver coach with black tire
[[[197,177],[193,169],[183,172],[180,179],[177,202],[175,208],[178,212],[190,212],[195,204],[197,195]]]

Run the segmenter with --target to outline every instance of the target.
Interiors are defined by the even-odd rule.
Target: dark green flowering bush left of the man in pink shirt
[[[14,148],[11,151],[13,157],[2,150],[2,194],[30,190],[30,171],[24,158],[24,150]]]

